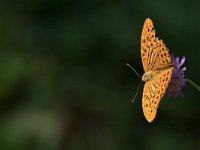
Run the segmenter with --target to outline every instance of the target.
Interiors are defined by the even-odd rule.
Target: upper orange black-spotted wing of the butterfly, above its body
[[[162,40],[156,37],[153,22],[147,18],[141,36],[141,58],[144,71],[172,66],[171,56]]]

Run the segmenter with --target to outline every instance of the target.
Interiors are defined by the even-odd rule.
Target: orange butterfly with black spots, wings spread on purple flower
[[[141,35],[141,58],[145,73],[142,96],[142,109],[148,122],[152,122],[157,113],[160,100],[165,94],[174,68],[169,50],[162,40],[156,37],[153,22],[147,18]]]

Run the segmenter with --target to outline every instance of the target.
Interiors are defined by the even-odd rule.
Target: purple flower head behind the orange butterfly
[[[169,97],[177,97],[179,95],[183,96],[182,88],[185,87],[185,70],[183,67],[185,63],[185,57],[183,56],[181,60],[178,57],[174,57],[171,54],[171,60],[174,64],[174,69],[172,71],[171,81],[169,82],[168,88],[166,90],[166,95]]]

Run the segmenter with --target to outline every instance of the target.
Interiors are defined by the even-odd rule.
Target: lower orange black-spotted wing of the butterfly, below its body
[[[144,85],[142,108],[145,118],[152,122],[156,116],[157,108],[163,97],[172,76],[173,68],[159,72],[158,75]]]

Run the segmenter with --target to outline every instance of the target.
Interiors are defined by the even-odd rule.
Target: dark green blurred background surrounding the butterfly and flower
[[[200,93],[142,112],[140,36],[150,17],[200,84],[200,1],[0,1],[0,149],[200,149]]]

